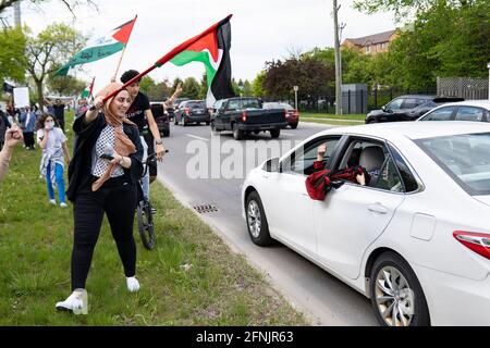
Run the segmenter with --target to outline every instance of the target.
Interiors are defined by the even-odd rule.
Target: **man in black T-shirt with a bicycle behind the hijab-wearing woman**
[[[139,73],[135,70],[128,70],[122,74],[121,82],[125,84],[138,74]],[[139,91],[139,83],[140,79],[137,79],[126,87],[130,92],[130,97],[133,100],[133,103],[127,110],[126,116],[138,127],[140,141],[145,149],[143,161],[146,161],[148,153],[154,152],[157,153],[157,160],[161,161],[166,153],[166,149],[160,137],[160,132],[158,130],[158,125],[155,122],[154,114],[151,113],[149,99],[146,95]],[[156,144],[156,151],[154,151],[154,139]],[[143,178],[143,195],[146,199],[149,198],[149,175],[150,173],[147,171],[145,177]],[[156,166],[155,176],[157,176]]]

